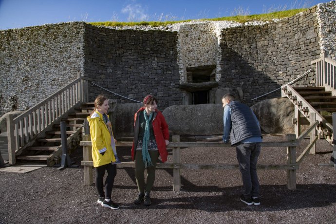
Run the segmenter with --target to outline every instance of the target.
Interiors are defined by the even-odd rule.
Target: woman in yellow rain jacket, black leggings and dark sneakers
[[[107,115],[108,109],[109,100],[99,95],[94,100],[94,111],[87,119],[90,124],[93,167],[96,169],[95,186],[99,194],[97,203],[104,207],[118,209],[119,206],[111,200],[114,177],[117,173],[116,163],[119,160],[115,151],[112,125]],[[105,181],[104,193],[105,170],[108,175]]]

